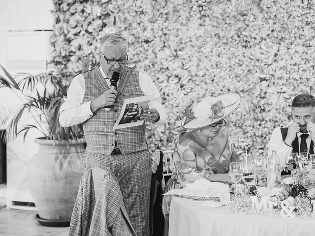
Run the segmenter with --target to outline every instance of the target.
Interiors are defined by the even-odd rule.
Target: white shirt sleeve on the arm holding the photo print
[[[160,125],[166,122],[166,112],[164,107],[162,106],[162,99],[159,94],[158,88],[153,83],[152,79],[143,72],[139,72],[139,84],[140,88],[143,91],[145,96],[153,95],[154,98],[150,103],[149,108],[155,108],[159,114],[159,120],[154,125]]]

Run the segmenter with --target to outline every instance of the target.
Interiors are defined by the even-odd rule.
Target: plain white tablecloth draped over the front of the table
[[[232,214],[203,203],[174,197],[169,236],[315,236],[315,220]]]

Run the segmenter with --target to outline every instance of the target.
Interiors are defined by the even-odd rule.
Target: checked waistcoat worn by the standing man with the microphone
[[[83,73],[85,79],[85,94],[83,103],[91,101],[109,89],[99,67]],[[126,67],[117,88],[117,97],[110,111],[98,109],[94,116],[83,123],[84,135],[87,142],[85,155],[101,153],[110,155],[115,147],[115,141],[123,154],[144,150],[145,124],[113,130],[122,110],[124,100],[143,96],[139,85],[139,71]]]

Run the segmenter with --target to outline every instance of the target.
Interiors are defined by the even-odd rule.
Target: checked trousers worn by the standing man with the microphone
[[[122,155],[86,152],[86,170],[92,167],[109,168],[117,177],[123,202],[137,236],[148,236],[151,185],[151,158],[148,149]]]

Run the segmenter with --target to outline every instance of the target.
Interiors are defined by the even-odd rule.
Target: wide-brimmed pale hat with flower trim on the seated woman
[[[186,108],[182,126],[186,129],[201,128],[215,123],[229,115],[241,102],[238,93],[226,93],[217,97],[208,97],[196,106]]]

